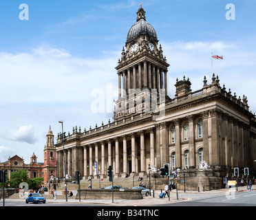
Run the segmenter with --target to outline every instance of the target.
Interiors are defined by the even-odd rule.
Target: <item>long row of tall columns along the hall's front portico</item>
[[[149,132],[149,145],[150,145],[150,164],[155,165],[155,129],[149,128],[147,130],[139,131],[140,135],[140,152],[138,152],[138,143],[136,140],[137,132],[129,133],[127,135],[121,135],[114,139],[107,139],[93,144],[87,144],[84,146],[75,146],[65,149],[66,161],[66,174],[74,176],[76,170],[80,170],[83,176],[88,177],[94,175],[94,162],[97,166],[97,175],[100,172],[101,176],[107,174],[106,167],[112,166],[114,169],[114,175],[120,176],[120,158],[122,158],[122,175],[128,173],[127,168],[127,141],[131,142],[131,170],[130,173],[141,173],[144,175],[147,173],[146,166],[146,137],[145,133]],[[122,142],[122,155],[120,155],[120,143]],[[114,144],[113,144],[114,143]],[[106,151],[107,144],[107,151]],[[100,154],[99,154],[99,148]],[[94,153],[93,153],[94,151]],[[105,153],[107,152],[107,155]],[[138,170],[138,157],[140,157],[140,170]],[[100,165],[100,167],[99,167]],[[87,169],[89,167],[89,169]],[[63,151],[58,151],[58,169],[60,177],[64,177],[63,166]],[[83,170],[83,172],[82,172]],[[89,172],[88,172],[89,171]]]

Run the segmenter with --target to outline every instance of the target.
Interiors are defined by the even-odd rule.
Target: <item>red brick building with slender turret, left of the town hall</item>
[[[56,162],[56,147],[54,146],[54,135],[52,134],[51,126],[46,135],[46,145],[43,149],[44,162],[37,162],[37,157],[32,154],[30,164],[25,164],[24,159],[18,155],[9,157],[6,162],[0,163],[0,170],[6,170],[8,177],[12,172],[17,172],[19,169],[28,171],[29,178],[43,177],[42,186],[45,186],[51,176],[57,176]]]

